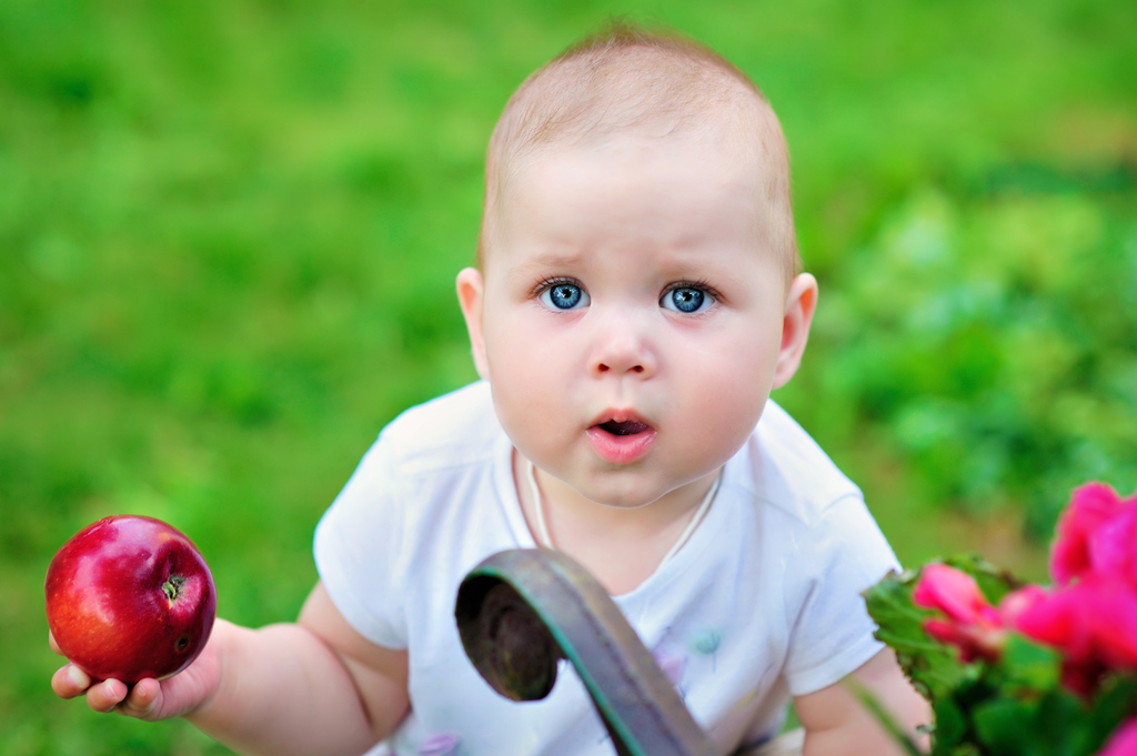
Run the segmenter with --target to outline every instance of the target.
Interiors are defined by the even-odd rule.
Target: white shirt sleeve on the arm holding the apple
[[[407,647],[399,545],[404,512],[397,465],[381,434],[316,526],[316,570],[356,631],[391,649]]]

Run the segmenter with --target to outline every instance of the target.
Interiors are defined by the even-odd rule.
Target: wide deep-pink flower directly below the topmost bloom
[[[1035,599],[1012,623],[1062,651],[1062,682],[1082,696],[1093,695],[1105,672],[1137,670],[1137,590],[1127,580],[1085,574]]]

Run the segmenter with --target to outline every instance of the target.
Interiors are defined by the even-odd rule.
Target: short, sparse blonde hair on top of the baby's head
[[[626,22],[570,47],[514,92],[490,136],[478,260],[492,246],[511,167],[551,148],[619,133],[666,138],[711,132],[753,155],[764,173],[771,251],[788,285],[800,261],[790,203],[789,150],[778,117],[753,82],[713,50]]]

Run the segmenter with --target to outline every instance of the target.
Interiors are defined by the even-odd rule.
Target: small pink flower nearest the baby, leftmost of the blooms
[[[1006,639],[1003,617],[971,575],[945,564],[929,564],[920,573],[912,601],[947,615],[946,620],[924,621],[924,632],[958,648],[963,662],[998,659]]]

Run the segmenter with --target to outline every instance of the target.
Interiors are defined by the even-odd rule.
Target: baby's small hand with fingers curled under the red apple
[[[165,680],[147,678],[134,686],[121,680],[93,681],[74,664],[66,664],[51,678],[51,689],[60,698],[86,696],[86,705],[96,712],[118,712],[126,716],[155,722],[189,714],[200,707],[217,690],[221,665],[214,638],[201,654],[182,672]],[[51,650],[63,656],[56,639],[48,633]]]

